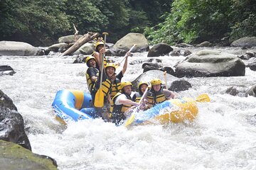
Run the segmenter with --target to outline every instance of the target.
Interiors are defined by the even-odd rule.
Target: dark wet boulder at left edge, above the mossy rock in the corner
[[[0,90],[0,140],[14,142],[31,150],[24,121],[9,96]]]

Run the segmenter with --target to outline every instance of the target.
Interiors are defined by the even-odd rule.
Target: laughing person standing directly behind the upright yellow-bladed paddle
[[[100,89],[100,79],[97,79],[94,86],[92,87],[92,103],[95,107],[95,111],[97,113],[96,117],[102,117],[104,120],[109,119],[109,110],[110,110],[110,93],[112,89],[112,82],[111,78],[114,74],[115,67],[113,63],[107,63],[105,69],[103,69],[103,72],[100,72],[102,74],[102,88]],[[104,98],[104,106],[102,107],[96,107],[95,106],[95,95],[97,94],[98,90],[102,90],[102,96],[101,98]],[[96,98],[97,99],[97,98]]]

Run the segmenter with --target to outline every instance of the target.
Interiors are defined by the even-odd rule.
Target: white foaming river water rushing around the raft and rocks
[[[158,58],[170,67],[184,59]],[[138,59],[145,60],[146,52],[129,57],[129,62]],[[73,60],[0,56],[0,65],[9,65],[16,72],[0,77],[0,89],[23,116],[33,152],[55,159],[58,169],[256,169],[256,98],[223,93],[230,86],[256,84],[250,69],[246,68],[244,77],[184,78],[193,87],[179,96],[196,98],[207,93],[211,98],[210,103],[198,103],[199,114],[193,123],[127,129],[96,119],[70,122],[65,127],[55,120],[51,108],[56,92],[87,91],[86,64],[72,64]],[[142,64],[129,65],[123,79],[136,79],[142,74],[138,68]]]

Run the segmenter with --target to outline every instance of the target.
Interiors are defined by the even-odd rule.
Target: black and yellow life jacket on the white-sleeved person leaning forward
[[[121,120],[125,119],[124,112],[127,111],[129,108],[132,107],[132,105],[115,105],[114,102],[116,101],[117,97],[120,96],[122,93],[118,92],[114,98],[113,103],[110,106],[110,118],[114,121],[114,123],[118,124]],[[124,94],[127,99],[132,101],[132,97],[128,94]]]

